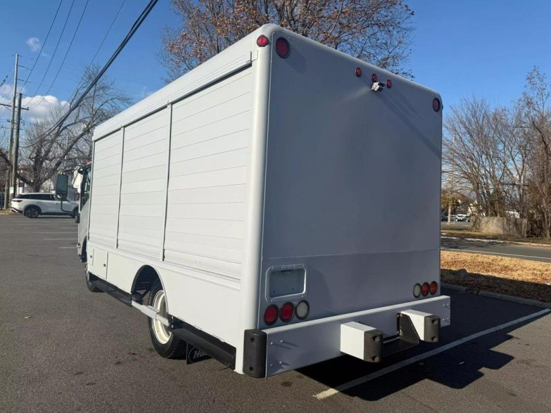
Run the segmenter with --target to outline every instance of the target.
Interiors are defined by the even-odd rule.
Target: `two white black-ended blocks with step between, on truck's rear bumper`
[[[415,347],[420,341],[440,340],[440,317],[416,310],[397,314],[397,336],[383,338],[383,332],[361,322],[341,324],[341,352],[368,362]]]

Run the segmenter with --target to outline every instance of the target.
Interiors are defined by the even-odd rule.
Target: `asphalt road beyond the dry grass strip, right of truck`
[[[464,239],[461,237],[453,237],[453,235],[442,236],[440,239],[440,246],[444,251],[501,255],[502,257],[551,262],[551,246],[538,247],[528,244],[509,244],[503,241],[491,241],[486,239]]]

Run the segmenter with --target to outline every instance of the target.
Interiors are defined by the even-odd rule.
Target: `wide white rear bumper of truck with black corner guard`
[[[298,369],[316,362],[322,362],[342,356],[341,324],[359,322],[374,327],[383,332],[384,336],[397,334],[397,315],[402,311],[415,310],[430,313],[440,318],[441,326],[450,324],[450,297],[441,295],[426,300],[416,300],[392,306],[379,307],[356,313],[334,315],[287,326],[265,329],[262,331],[248,330],[245,334],[245,363],[255,360],[257,374],[251,376],[273,376],[284,371]],[[253,333],[254,332],[254,333]],[[251,334],[255,337],[255,345],[251,347]],[[264,340],[259,340],[265,336]],[[262,337],[264,338],[264,337]],[[262,345],[258,343],[262,342]],[[249,354],[247,354],[249,352]],[[262,363],[265,360],[264,374]],[[251,366],[244,365],[244,372],[249,374]]]

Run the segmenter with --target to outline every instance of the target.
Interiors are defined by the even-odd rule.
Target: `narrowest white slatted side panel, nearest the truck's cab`
[[[122,145],[122,131],[94,144],[89,239],[107,246],[114,246],[117,236]]]

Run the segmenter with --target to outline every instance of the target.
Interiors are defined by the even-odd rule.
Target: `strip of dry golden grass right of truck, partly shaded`
[[[551,264],[449,251],[441,257],[442,282],[551,302]]]

